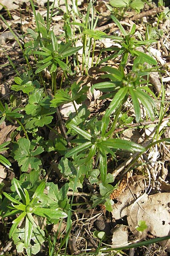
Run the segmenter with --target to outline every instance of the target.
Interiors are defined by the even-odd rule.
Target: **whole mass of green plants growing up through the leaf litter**
[[[147,76],[150,72],[160,71],[156,59],[147,53],[156,38],[137,40],[136,26],[133,25],[130,32],[126,32],[115,17],[114,9],[111,18],[121,32],[120,36],[94,30],[97,18],[94,20],[91,0],[85,19],[76,7],[71,14],[65,13],[64,33],[57,37],[50,27],[54,5],[51,6],[49,17],[48,1],[48,17],[45,23],[42,15],[36,14],[33,1],[30,2],[37,27],[35,30],[29,28],[26,34],[29,37],[23,50],[27,62],[26,72],[18,73],[11,86],[11,90],[21,92],[26,97],[26,102],[18,101],[15,107],[9,106],[10,102],[0,102],[0,124],[4,121],[17,124],[17,131],[14,131],[11,141],[0,145],[0,152],[10,149],[10,155],[17,162],[19,170],[19,178],[11,180],[10,193],[5,192],[1,184],[0,216],[4,219],[4,225],[5,219],[12,216],[9,238],[13,239],[18,253],[25,250],[29,256],[40,251],[47,236],[47,231],[45,233],[37,224],[36,219],[40,217],[47,224],[59,225],[63,218],[67,218],[66,236],[61,247],[67,245],[73,204],[73,198],[68,198],[68,191],[71,190],[74,195],[74,192],[82,189],[85,178],[91,186],[97,184],[99,187],[100,196],[92,204],[95,206],[102,202],[106,210],[112,210],[110,194],[116,184],[113,185],[113,175],[108,173],[108,159],[116,162],[116,154],[120,150],[139,154],[146,150],[140,144],[123,140],[119,134],[115,135],[115,129],[132,121],[141,122],[141,106],[146,111],[147,118],[152,121],[155,119],[157,98],[148,86]],[[65,2],[68,8],[67,1]],[[144,2],[147,1],[111,0],[110,4],[121,11],[125,8],[139,12]],[[82,18],[82,23],[77,22],[77,16]],[[78,26],[82,47],[76,47],[75,26]],[[103,80],[92,84],[90,88],[74,79],[77,76],[75,67],[79,66],[78,52],[82,49],[82,73],[87,74],[90,54],[90,64],[91,67],[94,66],[95,43],[104,38],[112,39],[120,47],[101,49],[95,66],[100,65],[100,78]],[[146,52],[138,50],[142,46]],[[104,51],[108,52],[108,56],[102,59]],[[120,64],[117,69],[105,65],[107,61],[115,60],[118,56]],[[34,67],[29,64],[30,57],[34,57]],[[127,71],[129,58],[133,61],[133,67]],[[56,80],[59,72],[62,73],[60,84]],[[50,81],[44,79],[45,73],[50,75]],[[91,115],[84,103],[88,91],[93,93],[95,89],[103,93],[101,99],[110,99],[108,108],[99,118]],[[134,109],[133,117],[128,117],[123,111],[127,99],[131,100]],[[59,107],[67,103],[71,103],[75,111],[68,113],[63,124],[59,119]],[[77,104],[81,106],[77,108]],[[43,134],[45,130],[53,131],[56,134],[55,139],[46,137]],[[48,168],[44,166],[42,155],[49,152],[53,156],[59,156],[58,169],[64,180],[61,186],[45,179]],[[10,161],[2,154],[0,163],[12,168]],[[139,226],[145,227],[142,222]],[[52,244],[50,255],[53,255],[54,246]]]

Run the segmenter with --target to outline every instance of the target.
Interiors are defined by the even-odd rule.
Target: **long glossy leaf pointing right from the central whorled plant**
[[[145,150],[145,148],[142,147],[142,145],[139,145],[132,141],[122,140],[122,139],[108,139],[108,140],[102,141],[102,144],[111,148],[130,151],[132,153],[143,152]]]

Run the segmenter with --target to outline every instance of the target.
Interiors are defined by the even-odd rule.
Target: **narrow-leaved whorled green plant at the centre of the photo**
[[[95,124],[94,129],[91,130],[91,134],[80,129],[74,124],[70,124],[69,127],[80,135],[80,139],[76,141],[80,143],[80,145],[71,149],[65,154],[65,157],[72,157],[81,151],[87,151],[87,149],[89,149],[85,163],[88,163],[94,157],[94,155],[97,155],[97,161],[99,160],[100,164],[100,177],[103,185],[105,185],[107,177],[108,153],[113,155],[115,153],[115,149],[118,148],[130,152],[144,151],[144,148],[136,143],[121,139],[109,139],[106,133],[108,125],[106,124],[105,116],[103,117],[103,122],[97,122]]]

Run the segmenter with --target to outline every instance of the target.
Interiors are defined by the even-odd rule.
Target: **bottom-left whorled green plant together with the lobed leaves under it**
[[[57,223],[60,218],[66,218],[67,214],[62,209],[67,205],[65,196],[68,186],[63,186],[59,192],[57,185],[45,184],[45,181],[41,180],[35,184],[34,191],[32,191],[20,185],[15,178],[12,182],[16,192],[11,195],[2,192],[6,198],[1,205],[1,215],[3,218],[18,215],[12,221],[9,238],[12,237],[16,242],[18,252],[23,252],[25,248],[31,256],[31,253],[36,254],[40,250],[40,245],[44,241],[44,232],[37,226],[34,216],[47,218],[50,223]],[[44,194],[45,186],[48,188],[48,195]],[[17,228],[21,222],[24,227]],[[31,239],[34,245],[31,245]]]

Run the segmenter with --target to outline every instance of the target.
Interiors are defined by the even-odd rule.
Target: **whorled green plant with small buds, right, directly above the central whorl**
[[[134,61],[133,69],[127,75],[124,72],[121,72],[112,67],[102,67],[101,71],[108,72],[107,74],[102,75],[102,78],[108,78],[111,81],[104,81],[100,82],[99,84],[94,84],[91,90],[99,89],[104,92],[109,92],[109,94],[104,95],[105,98],[113,97],[106,113],[105,118],[109,117],[111,114],[116,113],[119,111],[119,108],[123,105],[123,103],[127,100],[127,96],[131,96],[133,107],[135,110],[136,115],[136,122],[139,122],[141,118],[141,108],[139,105],[139,101],[142,103],[144,108],[146,109],[147,113],[150,116],[151,120],[154,120],[154,108],[155,102],[153,99],[148,95],[150,93],[155,99],[156,96],[154,93],[148,88],[147,86],[143,86],[143,84],[147,83],[143,76],[148,75],[151,70],[154,71],[155,69],[147,69],[141,63],[136,63]],[[115,123],[117,122],[117,118]],[[113,132],[113,126],[111,131]],[[109,133],[111,133],[111,131]]]

